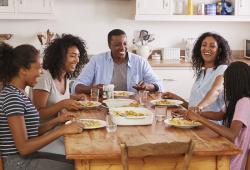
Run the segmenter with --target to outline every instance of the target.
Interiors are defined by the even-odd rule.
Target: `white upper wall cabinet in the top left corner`
[[[54,0],[4,0],[0,19],[53,19]]]

